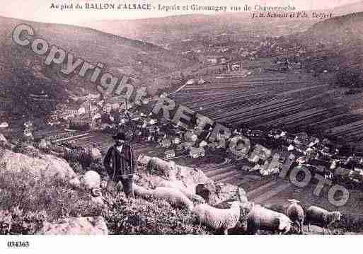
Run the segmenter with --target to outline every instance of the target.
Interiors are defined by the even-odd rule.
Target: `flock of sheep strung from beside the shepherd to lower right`
[[[289,200],[289,205],[284,212],[277,212],[259,204],[246,202],[243,197],[238,201],[229,202],[231,207],[212,207],[199,200],[190,200],[183,192],[172,187],[156,187],[154,190],[134,185],[134,192],[139,197],[153,197],[167,200],[178,207],[185,207],[197,217],[200,225],[204,224],[217,232],[228,234],[230,229],[239,227],[243,233],[255,234],[259,230],[272,231],[272,233],[289,233],[297,226],[299,233],[303,232],[303,224],[321,226],[330,233],[329,226],[339,221],[340,212],[328,212],[320,207],[311,206],[304,212],[298,200]],[[244,202],[241,202],[243,200]],[[197,204],[195,204],[197,203]],[[247,219],[247,221],[246,221]],[[245,220],[245,221],[243,221]]]

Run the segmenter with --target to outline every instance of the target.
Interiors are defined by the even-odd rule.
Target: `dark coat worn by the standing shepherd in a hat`
[[[122,152],[118,151],[116,146],[111,146],[103,160],[103,165],[111,179],[128,178],[131,177],[131,173],[135,173],[134,158],[134,151],[128,144],[123,145]]]

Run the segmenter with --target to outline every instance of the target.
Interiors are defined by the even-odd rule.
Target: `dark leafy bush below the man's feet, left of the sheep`
[[[210,234],[185,209],[174,209],[161,200],[127,200],[107,196],[110,209],[104,217],[112,234]]]

